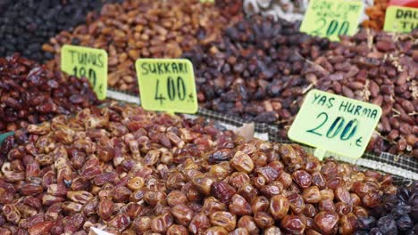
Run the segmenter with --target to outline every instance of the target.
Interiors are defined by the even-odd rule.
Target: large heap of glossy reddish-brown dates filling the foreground
[[[298,145],[118,104],[29,126],[1,153],[1,234],[352,234],[397,190]]]

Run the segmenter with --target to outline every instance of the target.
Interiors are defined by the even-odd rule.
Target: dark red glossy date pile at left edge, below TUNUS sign
[[[98,104],[86,78],[66,77],[18,54],[0,58],[0,134]]]

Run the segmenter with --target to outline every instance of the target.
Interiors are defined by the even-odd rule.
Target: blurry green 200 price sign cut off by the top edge
[[[300,31],[339,41],[339,35],[355,35],[363,12],[359,1],[311,0]]]

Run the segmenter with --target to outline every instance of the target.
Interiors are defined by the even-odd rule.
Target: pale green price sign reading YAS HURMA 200
[[[288,137],[317,150],[360,158],[380,116],[377,105],[312,90],[290,126]]]

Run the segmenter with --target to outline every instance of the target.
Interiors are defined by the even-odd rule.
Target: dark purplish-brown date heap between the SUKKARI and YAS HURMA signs
[[[256,122],[289,118],[297,111],[291,107],[295,97],[308,85],[302,76],[308,64],[302,57],[329,46],[327,39],[298,28],[287,21],[254,17],[227,28],[222,42],[183,54],[195,67],[202,106]]]

